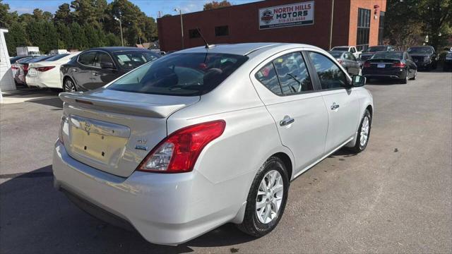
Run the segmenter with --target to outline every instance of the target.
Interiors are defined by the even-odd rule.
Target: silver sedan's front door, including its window
[[[328,133],[325,151],[330,152],[355,136],[359,123],[359,99],[350,87],[351,80],[330,57],[322,52],[307,52],[314,82],[321,85],[321,94],[328,111]]]

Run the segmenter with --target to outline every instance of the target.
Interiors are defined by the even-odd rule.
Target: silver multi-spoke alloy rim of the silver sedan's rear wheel
[[[283,177],[276,170],[263,176],[256,197],[256,215],[259,222],[268,224],[278,218],[284,195]]]

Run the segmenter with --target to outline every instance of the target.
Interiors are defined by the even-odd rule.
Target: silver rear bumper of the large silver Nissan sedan
[[[95,207],[94,210],[106,211],[123,225],[130,224],[152,243],[184,243],[232,221],[243,209],[235,204],[230,209],[212,212],[211,200],[219,197],[199,198],[198,193],[205,194],[213,183],[196,171],[183,174],[135,171],[122,178],[71,158],[59,141],[55,144],[52,168],[55,188]],[[99,214],[93,215],[102,219]]]

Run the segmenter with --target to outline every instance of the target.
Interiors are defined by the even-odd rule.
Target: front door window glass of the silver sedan
[[[319,75],[322,89],[345,87],[345,73],[331,59],[316,52],[309,52],[309,57]]]

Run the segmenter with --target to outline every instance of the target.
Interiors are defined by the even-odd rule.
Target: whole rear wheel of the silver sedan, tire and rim
[[[244,220],[237,227],[256,237],[275,229],[283,216],[289,185],[283,161],[278,157],[270,157],[258,170],[251,184]]]

